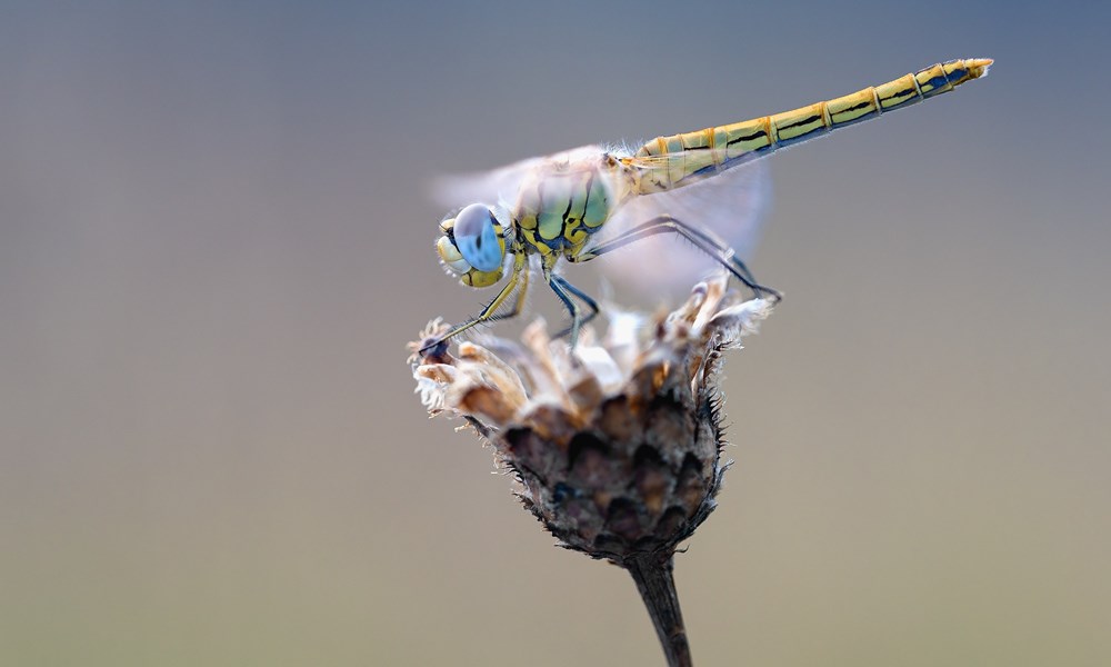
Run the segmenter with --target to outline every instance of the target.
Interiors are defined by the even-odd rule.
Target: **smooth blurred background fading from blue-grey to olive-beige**
[[[694,657],[1111,663],[1111,11],[678,7],[4,2],[0,664],[662,664],[412,395],[428,179],[970,56],[772,159]]]

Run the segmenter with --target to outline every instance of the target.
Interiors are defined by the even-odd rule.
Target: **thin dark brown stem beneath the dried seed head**
[[[668,667],[691,667],[691,649],[687,644],[687,628],[679,609],[675,579],[672,576],[671,554],[650,554],[629,558],[622,566],[632,575],[640,597],[652,617],[655,634],[663,645]]]

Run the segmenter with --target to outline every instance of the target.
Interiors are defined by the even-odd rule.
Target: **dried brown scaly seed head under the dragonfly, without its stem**
[[[713,510],[725,468],[720,352],[770,309],[722,277],[650,327],[611,315],[607,338],[588,331],[573,355],[538,321],[523,346],[490,338],[421,356],[447,330],[437,320],[410,344],[410,362],[429,412],[462,416],[492,442],[562,546],[625,564],[670,557]]]

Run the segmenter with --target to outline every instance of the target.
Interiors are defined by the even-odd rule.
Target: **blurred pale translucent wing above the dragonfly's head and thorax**
[[[489,171],[437,177],[431,183],[432,199],[449,208],[476,202],[491,206],[502,202],[512,205],[527,179],[559,169],[560,165],[569,161],[601,157],[604,152],[605,149],[600,146],[583,146],[551,156],[529,158]]]

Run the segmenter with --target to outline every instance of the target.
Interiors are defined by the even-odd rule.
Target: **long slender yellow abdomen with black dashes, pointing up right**
[[[697,132],[658,137],[641,147],[635,158],[662,159],[667,169],[644,173],[639,190],[649,193],[684,186],[778,148],[909,107],[987,74],[991,63],[987,58],[950,60],[881,86],[793,111]]]

